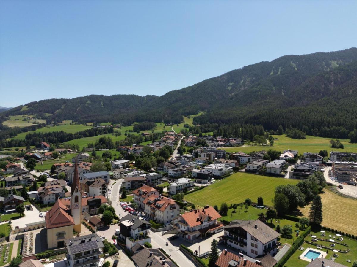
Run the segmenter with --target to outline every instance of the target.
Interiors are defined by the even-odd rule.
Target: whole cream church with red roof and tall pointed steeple
[[[64,247],[64,240],[73,237],[73,231],[81,232],[82,194],[78,176],[77,163],[75,164],[73,183],[71,187],[70,208],[67,208],[61,199],[46,213],[47,248]]]

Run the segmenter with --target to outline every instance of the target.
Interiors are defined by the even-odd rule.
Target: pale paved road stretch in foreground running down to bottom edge
[[[178,247],[173,246],[171,242],[168,242],[166,246],[168,235],[161,236],[161,232],[153,232],[150,230],[151,244],[153,248],[161,247],[180,267],[194,267],[192,261],[190,261]]]

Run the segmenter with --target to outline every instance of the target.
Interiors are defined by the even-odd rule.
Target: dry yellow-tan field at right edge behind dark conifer
[[[357,228],[351,227],[357,221],[357,200],[340,197],[328,189],[324,189],[324,192],[321,194],[322,225],[357,235]],[[310,205],[306,205],[304,209],[300,210],[307,216]]]

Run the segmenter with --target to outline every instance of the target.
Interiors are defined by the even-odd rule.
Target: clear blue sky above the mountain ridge
[[[162,95],[286,54],[357,46],[356,1],[0,2],[0,106]]]

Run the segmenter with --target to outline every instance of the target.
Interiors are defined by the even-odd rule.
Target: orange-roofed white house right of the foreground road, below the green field
[[[181,214],[174,220],[173,226],[177,228],[179,237],[196,242],[206,234],[215,234],[222,230],[223,224],[217,221],[219,218],[221,215],[212,206],[205,206],[203,209]]]

